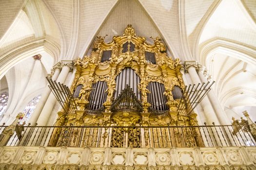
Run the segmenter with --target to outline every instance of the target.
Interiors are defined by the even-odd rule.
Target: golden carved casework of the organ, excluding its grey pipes
[[[128,25],[123,33],[123,36],[115,36],[113,40],[109,43],[104,42],[105,36],[97,36],[97,40],[93,44],[93,51],[90,55],[84,56],[83,58],[77,58],[76,60],[70,61],[62,61],[59,62],[54,68],[61,69],[63,66],[69,66],[70,69],[76,67],[77,71],[75,74],[75,79],[71,86],[71,92],[74,92],[77,85],[83,85],[79,91],[79,97],[75,99],[77,108],[75,111],[68,112],[67,115],[62,115],[59,117],[58,124],[61,125],[72,125],[82,126],[82,125],[102,125],[102,126],[125,126],[125,129],[118,128],[109,128],[104,131],[102,137],[104,138],[104,144],[107,145],[108,140],[113,147],[122,147],[123,145],[131,146],[131,147],[139,147],[140,146],[140,131],[137,128],[128,131],[127,128],[129,126],[136,126],[141,123],[141,119],[143,117],[142,124],[144,125],[156,125],[156,126],[164,126],[164,125],[189,125],[190,119],[185,119],[184,115],[178,115],[179,112],[177,110],[178,100],[174,100],[172,90],[175,85],[179,86],[181,89],[184,89],[184,83],[182,80],[182,74],[180,69],[182,66],[180,65],[179,59],[173,60],[172,57],[169,57],[166,53],[166,48],[164,43],[161,41],[159,37],[152,38],[154,40],[154,44],[150,44],[146,42],[146,38],[136,36],[135,29],[132,25]],[[128,42],[128,43],[127,43]],[[128,44],[128,45],[127,45]],[[126,51],[122,51],[124,46],[126,45]],[[134,45],[134,46],[133,46]],[[101,62],[101,57],[103,55],[103,51],[112,50],[111,56],[106,59],[105,62]],[[147,53],[146,53],[147,51]],[[149,53],[154,53],[152,56],[155,57],[154,62],[156,64],[152,64],[148,59]],[[150,55],[151,55],[150,53]],[[189,67],[195,66],[197,67],[197,63],[191,62],[185,65],[185,69],[187,70]],[[132,68],[135,73],[138,75],[140,82],[137,87],[139,90],[139,94],[137,96],[138,103],[142,104],[142,109],[140,111],[142,113],[133,113],[130,111],[122,111],[121,113],[112,113],[110,111],[110,107],[112,106],[114,100],[114,96],[116,90],[118,90],[116,81],[119,73],[126,67]],[[136,79],[135,79],[136,80]],[[98,81],[106,82],[107,87],[104,87],[104,90],[97,91],[96,88],[93,88],[93,84]],[[134,80],[130,80],[133,82]],[[148,101],[148,95],[150,90],[147,88],[150,82],[158,82],[164,85],[164,101],[163,103],[166,106],[163,114],[157,115],[153,113],[151,109],[150,101]],[[117,88],[117,89],[116,89]],[[90,98],[90,94],[95,90],[94,95],[102,93],[106,94],[104,96],[104,100],[102,103],[99,101],[93,101]],[[141,98],[140,98],[141,97]],[[165,98],[166,97],[166,98]],[[102,98],[103,99],[103,98]],[[141,99],[141,100],[140,100]],[[101,99],[100,99],[101,100]],[[96,103],[93,103],[96,102]],[[88,104],[99,105],[102,110],[99,109],[89,109]],[[152,103],[152,101],[151,101]],[[122,104],[126,104],[122,102]],[[71,109],[70,109],[71,110]],[[97,114],[95,114],[97,111]],[[113,111],[113,110],[112,110]],[[115,111],[113,111],[115,112]],[[152,113],[148,113],[152,112]],[[105,116],[105,114],[109,114]],[[142,114],[148,114],[148,116],[142,116]],[[182,117],[183,116],[183,117]],[[61,122],[60,122],[61,121]],[[127,127],[127,128],[126,128]],[[107,131],[111,131],[113,139],[107,139]],[[163,131],[164,132],[164,131]],[[152,133],[155,135],[156,133],[163,133],[162,131],[153,131]],[[51,138],[51,144],[57,144],[58,146],[76,146],[78,141],[81,140],[82,132],[78,129],[73,129],[72,132],[70,129],[66,128],[56,128],[54,130],[54,136]],[[92,132],[90,128],[86,129],[83,132],[83,142],[81,142],[80,146],[93,146],[96,145],[96,141],[98,140],[96,131]],[[151,132],[145,130],[145,136],[151,136]],[[186,145],[194,145],[195,141],[191,137],[193,135],[192,131],[175,131],[172,132],[173,135],[185,135],[187,144]],[[129,137],[126,139],[123,138],[124,134],[128,134]],[[164,136],[164,135],[163,135]],[[165,135],[166,136],[166,135]],[[166,136],[167,137],[167,136]],[[146,137],[147,138],[147,137]],[[68,139],[68,140],[67,140]],[[123,143],[124,141],[127,143]],[[176,140],[176,139],[173,139]],[[177,143],[181,143],[177,139]],[[161,139],[163,145],[167,146],[167,139]],[[149,144],[149,140],[145,140],[146,145]],[[170,141],[169,141],[170,143]],[[170,144],[168,144],[170,145]]]

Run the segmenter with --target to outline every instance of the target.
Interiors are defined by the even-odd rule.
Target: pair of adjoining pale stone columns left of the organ
[[[69,71],[73,69],[72,61],[61,61],[57,63],[52,69],[52,80],[56,82],[64,83]],[[31,116],[30,123],[35,125],[37,122],[40,126],[47,125],[47,122],[51,116],[51,112],[56,103],[55,96],[51,93],[48,85],[45,87],[44,94],[42,95],[34,113]]]

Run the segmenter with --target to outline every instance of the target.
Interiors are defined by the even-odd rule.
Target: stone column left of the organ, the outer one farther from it
[[[52,72],[50,74],[50,77],[52,75],[52,80],[57,80],[60,70],[61,70],[61,67],[60,67],[59,63],[53,67]],[[39,103],[37,104],[33,114],[31,115],[31,118],[29,119],[29,123],[31,123],[32,126],[34,126],[35,123],[37,122],[39,115],[43,109],[43,106],[44,106],[45,102],[47,101],[47,99],[49,98],[49,95],[51,93],[51,90],[48,87],[48,85],[49,84],[47,84],[47,86],[45,87],[44,92],[41,96],[41,99],[39,100]]]

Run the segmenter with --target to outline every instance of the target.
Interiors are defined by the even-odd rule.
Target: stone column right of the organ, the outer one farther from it
[[[204,73],[205,72],[205,68],[201,65],[198,65],[198,75],[201,79],[202,82],[204,83],[207,83],[208,80],[206,79],[206,77],[204,76]],[[207,96],[209,97],[211,103],[212,103],[212,106],[215,110],[215,113],[217,115],[217,118],[219,119],[219,122],[221,125],[226,125],[226,124],[230,124],[230,122],[228,121],[228,118],[227,118],[227,115],[226,113],[224,112],[223,108],[221,107],[218,99],[217,99],[217,96],[215,95],[215,92],[213,89],[211,89],[209,91],[209,93],[207,94]]]

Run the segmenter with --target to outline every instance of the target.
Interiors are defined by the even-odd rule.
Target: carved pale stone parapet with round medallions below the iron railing
[[[38,154],[40,147],[3,147],[0,169],[7,170],[254,170],[255,147],[246,147],[248,157],[242,157],[238,147],[200,148],[73,148],[47,147]],[[61,150],[59,152],[59,150]],[[221,151],[218,152],[217,150]],[[86,152],[88,154],[85,154]],[[8,153],[8,154],[7,154]],[[16,156],[20,155],[20,156]],[[3,159],[4,158],[4,159]],[[250,161],[250,160],[251,161]],[[203,164],[199,164],[203,161]],[[222,165],[220,162],[228,161]],[[243,161],[246,160],[246,161]],[[37,164],[35,163],[37,162]],[[129,165],[127,164],[129,163]]]

